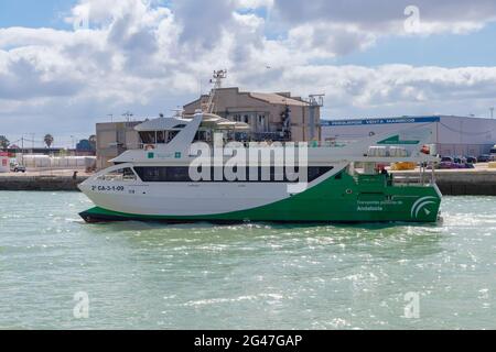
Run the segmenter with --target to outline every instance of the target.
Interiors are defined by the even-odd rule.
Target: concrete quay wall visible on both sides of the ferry
[[[90,174],[78,172],[74,178],[73,170],[57,170],[25,174],[0,174],[0,190],[41,190],[76,191],[77,185]],[[392,172],[395,179],[401,183],[414,183],[419,172]],[[429,180],[431,173],[425,174]],[[435,170],[435,180],[446,196],[496,196],[496,169],[479,166],[475,169]]]

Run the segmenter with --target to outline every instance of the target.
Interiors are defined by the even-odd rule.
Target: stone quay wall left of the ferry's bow
[[[0,176],[0,190],[74,191],[88,176]]]

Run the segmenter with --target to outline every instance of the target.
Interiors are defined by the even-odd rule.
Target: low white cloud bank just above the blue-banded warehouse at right
[[[468,114],[486,111],[496,96],[496,67],[301,66],[279,81],[325,92],[335,117]]]

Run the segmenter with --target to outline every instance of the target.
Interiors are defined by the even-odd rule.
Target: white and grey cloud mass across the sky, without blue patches
[[[496,67],[330,65],[366,51],[403,21],[401,1],[374,2],[385,11],[359,1],[360,11],[339,1],[296,7],[289,0],[282,8],[279,0],[181,0],[165,8],[80,0],[67,21],[89,13],[88,30],[0,29],[0,119],[11,130],[32,121],[90,131],[108,113],[158,114],[181,106],[198,95],[201,81],[205,91],[218,68],[229,69],[228,84],[244,89],[325,92],[327,117],[486,110],[496,95]],[[464,13],[451,22],[452,6],[441,11],[419,2],[429,10],[424,33],[479,29],[496,7],[476,1],[468,11],[453,1]],[[285,21],[283,37],[268,38],[269,20],[239,11],[260,7]]]

